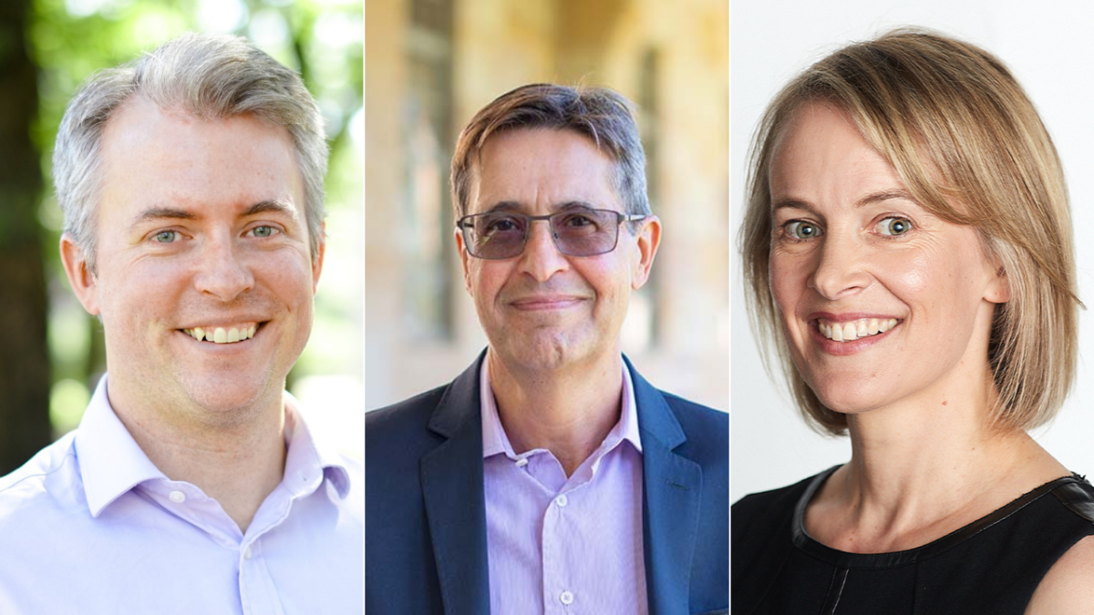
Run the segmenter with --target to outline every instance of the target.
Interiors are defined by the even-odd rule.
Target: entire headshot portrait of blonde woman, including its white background
[[[734,612],[1083,612],[1080,15],[845,4],[734,72]]]

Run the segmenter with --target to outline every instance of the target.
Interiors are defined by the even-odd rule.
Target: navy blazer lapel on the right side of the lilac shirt
[[[626,359],[626,358],[625,358]],[[642,438],[642,533],[650,613],[688,613],[702,469],[675,449],[687,440],[660,391],[630,361]]]

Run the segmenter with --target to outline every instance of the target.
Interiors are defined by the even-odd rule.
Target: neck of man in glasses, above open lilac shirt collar
[[[546,449],[573,474],[619,420],[622,359],[618,352],[580,369],[510,369],[487,353],[498,416],[516,453]]]

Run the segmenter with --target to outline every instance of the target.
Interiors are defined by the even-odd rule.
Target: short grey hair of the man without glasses
[[[65,212],[65,232],[83,251],[92,272],[103,130],[127,101],[138,96],[161,109],[197,118],[249,114],[284,127],[304,182],[312,258],[318,257],[328,148],[315,100],[296,72],[247,39],[185,34],[132,62],[93,74],[65,109],[54,150],[54,184]]]

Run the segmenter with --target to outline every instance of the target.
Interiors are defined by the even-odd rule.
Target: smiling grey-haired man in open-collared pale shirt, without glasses
[[[362,468],[283,391],[326,161],[300,77],[242,38],[183,36],[72,98],[61,262],[108,376],[0,478],[0,613],[361,613]]]

